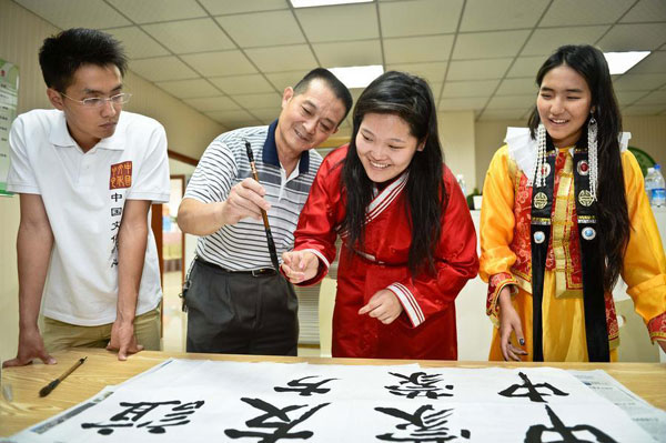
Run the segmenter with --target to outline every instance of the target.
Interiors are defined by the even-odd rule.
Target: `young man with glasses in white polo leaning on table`
[[[119,360],[160,348],[152,202],[169,201],[164,129],[121,112],[127,58],[111,36],[70,29],[39,53],[54,110],[13,122],[8,190],[20,194],[19,350],[6,366],[71,346]],[[44,328],[38,328],[42,301]]]

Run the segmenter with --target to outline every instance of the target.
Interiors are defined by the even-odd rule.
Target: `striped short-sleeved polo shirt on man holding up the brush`
[[[278,160],[276,124],[278,121],[274,121],[269,127],[241,128],[213,140],[199,161],[184,197],[203,203],[226,200],[234,184],[252,177],[245,151],[248,140],[252,144],[259,181],[271,203],[269,222],[278,258],[281,258],[283,252],[293,248],[299,214],[322,158],[314,150],[303,152],[299,165],[286,178]],[[206,262],[233,271],[272,268],[261,220],[243,219],[199,238],[196,254]]]

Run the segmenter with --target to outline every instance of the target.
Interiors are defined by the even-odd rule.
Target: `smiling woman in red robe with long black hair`
[[[321,281],[339,235],[333,356],[456,359],[454,301],[477,273],[476,234],[423,79],[386,72],[363,91],[351,143],[314,180],[284,274]]]

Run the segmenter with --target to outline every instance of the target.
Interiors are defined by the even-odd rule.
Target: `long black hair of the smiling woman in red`
[[[434,272],[434,251],[442,232],[442,208],[447,195],[442,179],[444,159],[435,101],[425,80],[416,75],[385,72],[356,101],[352,140],[342,173],[347,198],[343,228],[350,232],[349,245],[363,249],[365,211],[373,199],[373,182],[356,153],[356,135],[363,117],[369,113],[400,117],[418,143],[425,142],[423,151],[416,151],[407,167],[405,211],[410,214],[412,229],[408,268],[413,275],[424,270]]]

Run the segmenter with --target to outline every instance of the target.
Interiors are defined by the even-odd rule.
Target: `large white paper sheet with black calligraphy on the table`
[[[566,371],[170,360],[17,442],[652,442]]]

